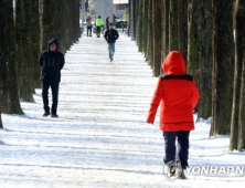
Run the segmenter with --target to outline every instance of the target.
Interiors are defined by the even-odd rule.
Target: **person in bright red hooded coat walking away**
[[[177,177],[184,179],[189,158],[189,135],[190,130],[194,129],[193,109],[200,94],[193,76],[185,73],[187,64],[179,51],[171,51],[168,54],[162,63],[162,70],[164,74],[158,80],[147,123],[153,124],[160,105],[160,129],[163,132],[166,150],[164,173],[168,175],[169,169],[175,166],[172,166],[172,161],[177,156]]]

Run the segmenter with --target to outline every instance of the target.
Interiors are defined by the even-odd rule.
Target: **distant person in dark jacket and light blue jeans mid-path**
[[[119,34],[117,30],[114,29],[114,24],[109,23],[109,30],[106,31],[104,38],[106,39],[108,43],[108,51],[109,51],[109,60],[114,60],[114,53],[115,53],[115,42],[119,38]]]

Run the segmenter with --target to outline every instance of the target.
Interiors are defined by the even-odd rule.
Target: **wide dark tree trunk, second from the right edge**
[[[234,74],[233,0],[213,0],[212,125],[210,136],[228,134]]]

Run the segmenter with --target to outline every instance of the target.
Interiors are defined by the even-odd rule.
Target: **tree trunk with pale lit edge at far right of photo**
[[[235,67],[231,121],[230,150],[245,149],[245,1],[236,0],[234,8]]]

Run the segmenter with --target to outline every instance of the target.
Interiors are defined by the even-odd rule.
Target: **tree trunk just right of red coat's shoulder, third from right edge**
[[[199,70],[198,86],[202,96],[198,106],[198,118],[212,115],[212,0],[199,1]],[[201,10],[201,11],[200,11]]]

